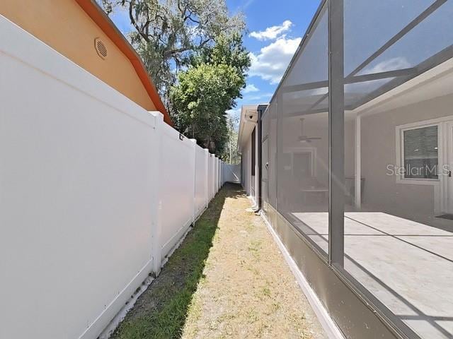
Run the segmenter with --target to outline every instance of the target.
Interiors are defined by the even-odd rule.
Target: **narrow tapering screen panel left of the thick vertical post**
[[[327,23],[325,7],[271,102],[271,111],[277,114],[277,210],[324,255],[328,251]],[[270,150],[272,156],[273,145]]]

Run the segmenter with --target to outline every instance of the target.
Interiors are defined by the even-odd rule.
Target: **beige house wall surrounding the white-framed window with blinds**
[[[420,215],[435,213],[438,183],[398,184],[396,176],[388,175],[386,166],[396,163],[396,126],[452,116],[452,107],[453,95],[447,95],[361,118],[364,208],[370,206],[396,215],[413,215],[414,211]]]

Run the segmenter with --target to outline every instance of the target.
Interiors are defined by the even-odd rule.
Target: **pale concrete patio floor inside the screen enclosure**
[[[292,216],[326,251],[328,214]],[[453,336],[452,249],[451,232],[387,213],[345,213],[345,269],[423,338]]]

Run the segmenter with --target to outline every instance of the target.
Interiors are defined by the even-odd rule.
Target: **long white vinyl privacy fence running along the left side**
[[[97,338],[205,210],[219,161],[3,16],[0,32],[0,338]]]

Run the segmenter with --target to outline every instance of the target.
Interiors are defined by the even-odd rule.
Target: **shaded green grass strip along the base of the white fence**
[[[205,261],[212,247],[217,222],[226,198],[243,196],[238,184],[225,184],[211,201],[148,289],[110,338],[179,338],[188,308],[203,278]]]

